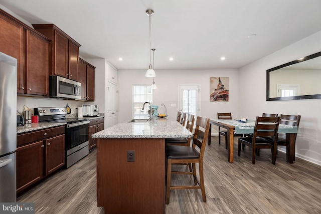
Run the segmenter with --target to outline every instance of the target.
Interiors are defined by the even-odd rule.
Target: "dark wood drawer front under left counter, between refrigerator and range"
[[[39,131],[27,132],[25,134],[17,135],[17,146],[31,143],[37,140],[42,140],[48,137],[65,134],[65,126],[58,126],[55,128],[42,129]]]

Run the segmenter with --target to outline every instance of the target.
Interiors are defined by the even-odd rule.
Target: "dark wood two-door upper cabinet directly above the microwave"
[[[38,32],[52,40],[52,72],[78,81],[79,47],[81,46],[53,24],[34,24]]]

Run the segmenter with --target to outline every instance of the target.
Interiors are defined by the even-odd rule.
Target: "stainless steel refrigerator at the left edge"
[[[0,52],[0,202],[16,202],[17,59]]]

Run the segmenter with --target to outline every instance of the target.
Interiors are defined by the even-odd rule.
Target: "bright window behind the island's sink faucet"
[[[135,116],[148,116],[147,110],[149,109],[149,106],[145,110],[141,110],[141,109],[144,102],[152,103],[153,101],[152,89],[150,85],[133,85],[132,95],[133,95],[133,98],[132,98],[133,118]]]

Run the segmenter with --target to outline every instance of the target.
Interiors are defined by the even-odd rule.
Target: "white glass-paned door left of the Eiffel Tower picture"
[[[196,119],[200,114],[200,86],[179,86],[179,93],[179,110],[187,114],[194,114]]]

